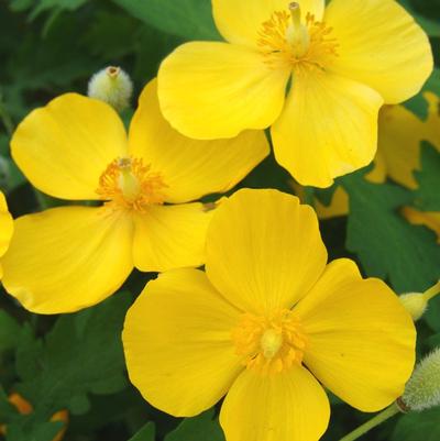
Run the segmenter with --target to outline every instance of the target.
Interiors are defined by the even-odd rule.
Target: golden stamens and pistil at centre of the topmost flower
[[[304,68],[323,69],[338,56],[338,42],[330,36],[331,31],[310,13],[301,23],[299,4],[293,2],[288,11],[275,11],[262,24],[257,44],[264,63],[273,68],[289,67],[295,71]]]

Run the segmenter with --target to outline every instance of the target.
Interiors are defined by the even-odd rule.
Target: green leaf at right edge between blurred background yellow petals
[[[427,142],[421,146],[421,170],[415,176],[419,184],[416,206],[424,211],[440,211],[440,152]]]

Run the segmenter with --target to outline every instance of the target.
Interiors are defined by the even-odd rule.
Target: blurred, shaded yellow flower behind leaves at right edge
[[[397,184],[416,189],[414,172],[420,170],[420,145],[428,141],[440,152],[440,99],[425,92],[428,102],[428,118],[420,120],[403,106],[384,107],[380,113],[378,147],[374,159],[374,169],[365,177],[371,183],[385,183],[389,177]],[[300,186],[293,184],[298,196],[302,198]],[[338,187],[329,206],[319,200],[314,201],[320,219],[331,219],[349,213],[349,195]],[[403,216],[411,223],[425,225],[436,232],[440,243],[440,212],[419,211],[405,207]]]

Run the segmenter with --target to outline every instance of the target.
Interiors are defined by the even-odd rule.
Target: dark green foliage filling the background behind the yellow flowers
[[[429,33],[438,55],[440,0],[400,2]],[[10,135],[31,109],[66,91],[85,93],[91,74],[108,65],[132,76],[136,96],[178,44],[219,38],[209,0],[0,0],[0,187],[14,217],[58,203],[35,191],[10,159]],[[439,70],[426,87],[440,95]],[[407,106],[426,117],[421,96]],[[426,145],[415,191],[392,181],[367,183],[365,170],[339,179],[337,186],[349,192],[351,212],[321,222],[331,257],[356,260],[365,275],[385,279],[398,293],[432,285],[440,268],[435,234],[408,224],[397,209],[413,205],[440,211],[439,172],[440,155]],[[288,175],[273,157],[242,186],[293,192]],[[316,194],[326,203],[333,190],[309,188],[307,195],[311,200]],[[123,317],[154,276],[135,273],[103,304],[59,318],[31,315],[0,293],[0,422],[8,425],[8,441],[51,441],[62,423],[50,419],[61,409],[70,416],[66,441],[223,441],[217,409],[180,421],[148,406],[127,379],[120,343]],[[432,302],[419,333],[420,354],[439,345],[440,299]],[[14,392],[33,405],[32,414],[20,415],[8,403]],[[369,418],[332,401],[324,440],[337,440]],[[399,417],[365,440],[419,441],[424,433],[426,441],[437,441],[439,420],[440,409]]]

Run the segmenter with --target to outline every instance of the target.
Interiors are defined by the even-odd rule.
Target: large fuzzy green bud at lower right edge
[[[405,410],[414,411],[440,405],[440,348],[418,364],[400,401]]]

